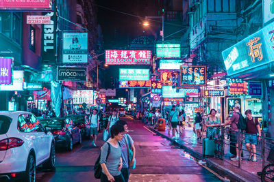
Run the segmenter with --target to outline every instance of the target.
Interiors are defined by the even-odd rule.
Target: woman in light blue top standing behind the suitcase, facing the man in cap
[[[218,138],[220,134],[220,126],[221,126],[221,121],[219,117],[216,117],[216,110],[212,108],[210,110],[210,116],[208,117],[208,119],[206,119],[206,127],[208,127],[206,130],[206,137],[212,138],[212,139]]]

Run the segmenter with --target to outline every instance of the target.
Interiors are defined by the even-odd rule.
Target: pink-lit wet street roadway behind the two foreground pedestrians
[[[142,123],[133,123],[129,117],[121,119],[129,124],[136,147],[136,169],[131,170],[129,181],[219,181],[169,140],[154,136]],[[37,181],[99,181],[94,177],[93,166],[103,145],[101,134],[98,144],[94,148],[90,140],[84,140],[71,152],[58,150],[55,172],[38,169]]]

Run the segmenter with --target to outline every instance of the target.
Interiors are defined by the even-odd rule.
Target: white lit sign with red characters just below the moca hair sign
[[[92,90],[77,90],[73,91],[73,104],[93,104],[93,91]]]

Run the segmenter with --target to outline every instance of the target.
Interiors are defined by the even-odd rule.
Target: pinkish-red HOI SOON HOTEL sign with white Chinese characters
[[[105,50],[106,65],[150,65],[151,50]]]

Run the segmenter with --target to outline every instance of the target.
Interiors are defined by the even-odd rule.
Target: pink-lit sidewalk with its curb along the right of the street
[[[229,160],[228,155],[225,155],[224,160],[220,160],[216,157],[203,158],[202,144],[197,143],[196,136],[192,131],[192,127],[186,127],[186,130],[183,130],[183,134],[180,136],[180,138],[176,140],[171,139],[172,136],[169,136],[168,130],[165,132],[159,132],[157,129],[154,130],[151,126],[148,126],[148,128],[158,135],[174,142],[176,145],[179,145],[182,149],[190,153],[190,155],[195,157],[197,160],[206,161],[207,166],[218,172],[220,175],[229,176],[230,179],[235,181],[260,181],[260,177],[257,175],[257,172],[262,171],[260,167],[261,165],[258,165],[261,164],[261,160],[259,159],[257,163],[249,162],[247,161],[246,155],[244,155],[242,166],[241,168],[238,168],[238,162]],[[246,151],[243,152],[247,153]],[[225,154],[227,154],[227,152],[225,152]]]

